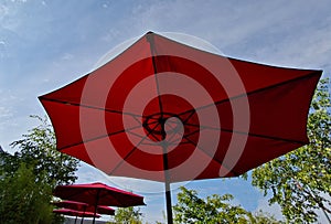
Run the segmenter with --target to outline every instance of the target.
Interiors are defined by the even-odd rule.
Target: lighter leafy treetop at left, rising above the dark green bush
[[[11,143],[18,151],[6,159],[4,171],[12,173],[24,162],[33,167],[34,174],[46,173],[44,178],[49,184],[73,183],[77,179],[78,160],[56,150],[55,134],[47,118],[31,117],[41,124]]]

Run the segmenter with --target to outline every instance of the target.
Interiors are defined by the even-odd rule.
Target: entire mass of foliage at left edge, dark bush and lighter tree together
[[[12,156],[0,150],[0,223],[63,223],[52,213],[52,191],[76,180],[78,160],[56,151],[47,119],[11,146]]]

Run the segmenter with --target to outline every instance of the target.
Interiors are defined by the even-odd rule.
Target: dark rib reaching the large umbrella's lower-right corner
[[[306,145],[305,141],[298,141],[298,140],[293,140],[293,139],[279,138],[279,137],[275,137],[275,136],[265,136],[265,135],[260,135],[260,134],[244,132],[244,131],[233,130],[233,129],[226,129],[226,128],[214,128],[214,127],[200,126],[200,125],[194,125],[194,124],[186,124],[186,125],[188,126],[193,126],[193,127],[196,127],[196,128],[212,129],[212,130],[218,130],[218,131],[224,131],[224,132],[232,132],[232,134],[237,134],[237,135],[244,135],[244,136],[252,136],[252,137],[257,137],[257,138],[271,139],[271,140],[277,140],[277,141],[295,142],[295,143]],[[192,131],[192,132],[196,132],[196,131]],[[190,136],[191,134],[188,134],[186,136]]]

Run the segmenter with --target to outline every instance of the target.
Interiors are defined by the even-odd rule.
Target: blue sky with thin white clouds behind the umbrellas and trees
[[[35,125],[29,115],[45,114],[38,96],[90,72],[109,50],[150,30],[203,39],[227,56],[319,68],[330,77],[330,11],[328,0],[0,0],[0,145],[12,151],[9,143]],[[146,220],[163,220],[162,185],[109,180],[85,164],[78,174],[79,182],[103,181],[146,195]],[[186,186],[201,195],[232,193],[234,203],[250,211],[263,207],[279,215],[243,180],[197,181]]]

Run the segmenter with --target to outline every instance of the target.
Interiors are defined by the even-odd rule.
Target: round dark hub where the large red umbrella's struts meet
[[[149,115],[143,119],[142,126],[147,136],[153,141],[164,141],[183,134],[182,119],[172,113]]]

